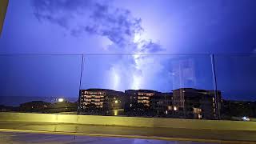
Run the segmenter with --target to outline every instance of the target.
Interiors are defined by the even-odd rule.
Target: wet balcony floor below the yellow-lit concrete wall
[[[0,122],[1,140],[15,138],[22,141],[33,140],[43,142],[44,138],[62,139],[74,138],[82,141],[83,137],[92,139],[96,143],[104,140],[117,143],[139,143],[154,142],[153,139],[164,140],[163,143],[172,141],[181,142],[214,142],[214,143],[241,143],[256,142],[255,131],[241,130],[189,130],[173,128],[149,128],[149,127],[130,127],[130,126],[91,126],[65,123],[43,123],[43,122]],[[6,133],[10,132],[10,133]],[[21,133],[21,134],[20,134]],[[22,134],[30,133],[30,134]],[[14,134],[14,138],[11,136]],[[40,136],[41,134],[41,136]],[[50,135],[49,135],[50,134]],[[58,134],[58,135],[52,135]],[[6,135],[6,138],[5,138]],[[70,135],[70,136],[65,136]],[[73,136],[71,136],[73,135]],[[26,137],[27,136],[27,137]],[[87,137],[86,137],[87,136]],[[100,138],[94,138],[100,137]],[[112,137],[113,139],[109,138]],[[38,138],[38,139],[37,139]],[[79,140],[80,138],[80,140]],[[127,139],[128,138],[128,139]],[[134,139],[135,138],[135,139]],[[136,139],[141,138],[141,139]],[[40,140],[41,139],[41,140]],[[86,140],[85,139],[85,140]],[[97,141],[98,139],[98,141]],[[147,139],[147,140],[143,140]],[[72,140],[74,141],[74,140]],[[74,142],[76,142],[74,141]],[[144,142],[145,141],[145,142]],[[166,141],[166,142],[165,142]],[[56,140],[58,142],[58,140]],[[112,142],[112,143],[113,143]],[[155,141],[160,142],[161,141]],[[0,142],[3,143],[3,142]],[[25,142],[26,143],[26,142]],[[30,142],[29,142],[30,143]],[[32,142],[33,143],[33,142]],[[62,142],[61,142],[62,143]],[[82,142],[83,143],[83,142]],[[179,142],[178,142],[179,143]]]

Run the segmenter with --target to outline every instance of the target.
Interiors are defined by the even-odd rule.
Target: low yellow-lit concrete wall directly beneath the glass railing
[[[134,118],[71,114],[0,113],[0,121],[59,122],[107,126],[144,126],[211,130],[256,130],[256,122],[213,121],[174,118]]]

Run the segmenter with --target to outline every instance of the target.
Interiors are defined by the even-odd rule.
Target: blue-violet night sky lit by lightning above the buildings
[[[256,100],[256,1],[10,0],[0,96],[181,87]],[[65,55],[62,55],[65,54]]]

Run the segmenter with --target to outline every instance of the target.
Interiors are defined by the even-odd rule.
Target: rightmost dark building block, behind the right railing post
[[[184,118],[218,119],[222,106],[221,92],[182,88],[173,90],[173,106]]]

